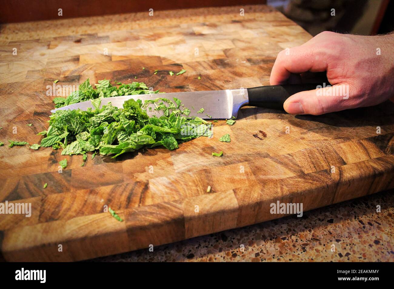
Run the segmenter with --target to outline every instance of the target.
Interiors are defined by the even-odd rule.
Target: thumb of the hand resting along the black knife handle
[[[320,115],[352,108],[348,85],[316,88],[293,94],[283,104],[290,114]]]

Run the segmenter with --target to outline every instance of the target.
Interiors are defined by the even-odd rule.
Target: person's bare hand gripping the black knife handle
[[[319,115],[394,101],[394,34],[322,32],[301,46],[281,51],[269,82],[305,83],[310,82],[309,72],[324,71],[333,87],[290,96],[283,105],[288,113]]]

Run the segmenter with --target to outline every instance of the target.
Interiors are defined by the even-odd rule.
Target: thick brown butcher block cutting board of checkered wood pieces
[[[7,146],[40,142],[53,108],[46,87],[56,79],[137,76],[164,92],[268,85],[277,53],[311,36],[269,7],[243,8],[244,16],[222,7],[13,24],[27,32],[15,32],[26,37],[19,40],[3,35],[0,48],[0,201],[31,203],[32,214],[0,215],[2,258],[85,260],[279,218],[270,214],[277,201],[306,211],[394,188],[392,103],[323,116],[244,107],[234,125],[214,123],[211,139],[116,160],[88,155],[83,167],[82,156]],[[84,27],[90,32],[78,32]],[[231,142],[219,142],[227,133]]]

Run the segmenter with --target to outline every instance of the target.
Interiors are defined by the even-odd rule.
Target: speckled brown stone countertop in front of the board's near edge
[[[377,205],[381,212],[376,212]],[[393,216],[394,190],[390,190],[304,212],[303,217],[92,261],[394,261]]]

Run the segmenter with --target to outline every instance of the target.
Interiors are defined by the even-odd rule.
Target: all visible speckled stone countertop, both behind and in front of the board
[[[226,7],[160,11],[152,20],[142,13],[3,24],[0,43],[62,35],[98,33],[107,28],[154,27],[166,19],[226,13]],[[271,9],[248,6],[248,9]],[[94,26],[91,26],[95,23]],[[284,217],[196,237],[173,244],[91,261],[394,261],[394,190]],[[377,212],[376,206],[381,206]],[[335,248],[335,250],[334,250]]]

